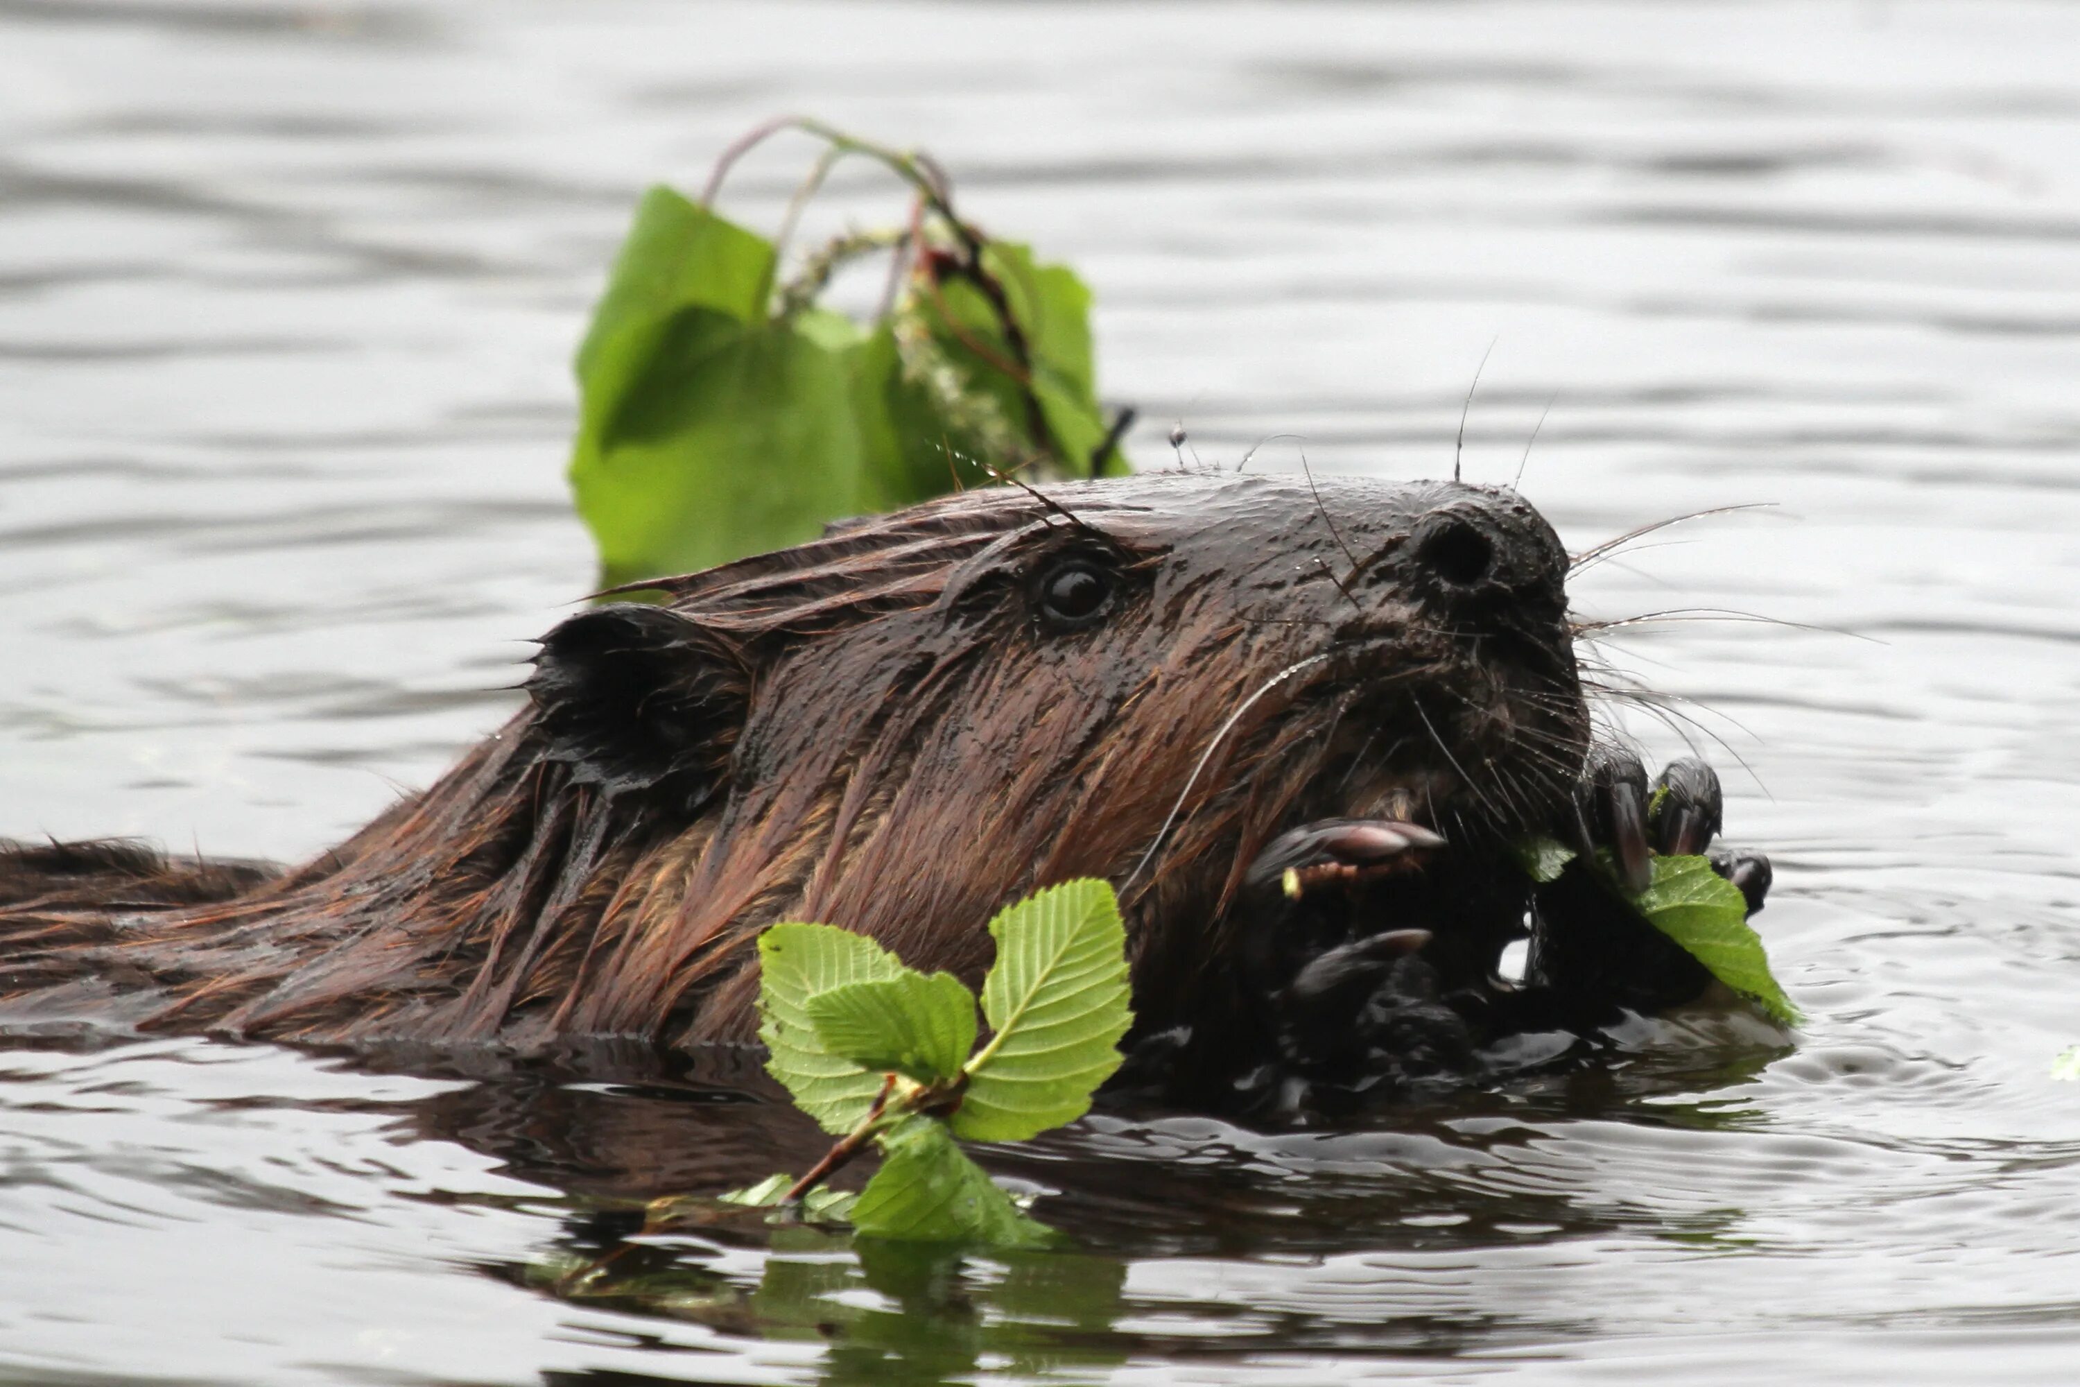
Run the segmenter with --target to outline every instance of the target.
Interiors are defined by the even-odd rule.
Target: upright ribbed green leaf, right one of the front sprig
[[[953,1131],[1017,1142],[1073,1123],[1119,1069],[1127,1033],[1127,934],[1113,888],[1077,880],[1036,892],[990,921],[996,965],[982,982],[994,1027],[967,1063]]]

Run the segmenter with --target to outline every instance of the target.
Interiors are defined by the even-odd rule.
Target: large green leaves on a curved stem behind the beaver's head
[[[768,239],[713,210],[759,141],[824,141]],[[901,225],[849,231],[782,281],[803,206],[840,158],[911,191]],[[844,264],[890,256],[867,322],[822,306]],[[570,480],[607,584],[780,549],[842,516],[996,476],[1127,472],[1096,395],[1090,289],[955,210],[930,156],[790,116],[738,139],[699,202],[653,187],[578,347]]]

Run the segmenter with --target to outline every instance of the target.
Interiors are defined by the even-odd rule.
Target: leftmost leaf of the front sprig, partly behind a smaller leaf
[[[759,1040],[765,1071],[824,1125],[851,1131],[882,1092],[882,1075],[824,1048],[809,998],[855,982],[911,973],[874,940],[834,925],[772,925],[759,936]],[[915,977],[915,973],[911,973]]]

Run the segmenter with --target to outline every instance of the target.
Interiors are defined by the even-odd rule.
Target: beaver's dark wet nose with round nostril
[[[1439,597],[1458,603],[1566,601],[1566,551],[1552,526],[1510,491],[1454,489],[1408,532],[1408,555]]]

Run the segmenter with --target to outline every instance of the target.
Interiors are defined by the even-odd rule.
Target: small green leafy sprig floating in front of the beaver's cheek
[[[1052,1241],[957,1140],[1017,1142],[1090,1110],[1134,1021],[1125,927],[1113,888],[1077,880],[1007,907],[990,936],[990,1033],[980,1046],[976,994],[955,975],[909,969],[832,925],[782,923],[759,936],[765,1067],[838,1142],[801,1179],[768,1179],[734,1202],[797,1204],[874,1146],[882,1169],[849,1208],[859,1233],[996,1248]]]

